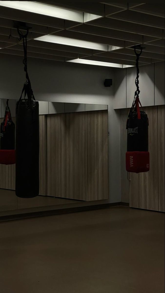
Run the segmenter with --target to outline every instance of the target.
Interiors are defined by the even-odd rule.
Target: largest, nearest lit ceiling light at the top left
[[[77,21],[81,23],[102,17],[100,15],[86,12],[83,13],[81,11],[61,8],[58,6],[35,1],[0,1],[0,6],[62,18],[70,21]]]

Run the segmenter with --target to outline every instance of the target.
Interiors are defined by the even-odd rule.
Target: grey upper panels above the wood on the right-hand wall
[[[142,106],[164,105],[164,61],[139,66]],[[114,69],[114,109],[130,108],[136,86],[136,67]]]

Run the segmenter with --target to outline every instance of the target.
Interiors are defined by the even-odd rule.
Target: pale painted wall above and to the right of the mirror
[[[23,58],[0,57],[0,98],[18,99],[25,82]],[[36,100],[108,105],[109,200],[104,202],[120,202],[120,115],[113,109],[113,86],[104,87],[113,69],[28,58],[28,73]]]

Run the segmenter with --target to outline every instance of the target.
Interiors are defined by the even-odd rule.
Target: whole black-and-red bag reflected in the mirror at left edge
[[[11,118],[8,100],[4,120],[0,127],[0,164],[12,165],[16,163],[15,124]]]

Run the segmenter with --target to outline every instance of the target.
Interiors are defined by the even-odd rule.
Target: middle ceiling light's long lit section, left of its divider
[[[76,40],[71,38],[65,38],[65,37],[59,37],[55,35],[44,35],[42,37],[35,38],[34,40],[74,46],[74,47],[88,48],[93,50],[108,51],[108,45],[88,42],[83,40]]]

